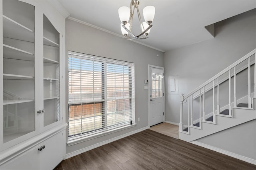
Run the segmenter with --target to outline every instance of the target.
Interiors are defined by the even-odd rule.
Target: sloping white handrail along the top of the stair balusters
[[[235,63],[231,64],[230,66],[228,66],[227,68],[225,68],[224,70],[222,70],[221,72],[219,72],[218,74],[216,74],[215,76],[213,76],[212,78],[210,78],[209,80],[204,82],[204,84],[200,85],[198,88],[196,88],[195,90],[193,90],[192,92],[190,92],[189,94],[184,96],[183,100],[185,100],[186,98],[188,98],[189,96],[191,96],[192,94],[194,94],[195,92],[197,92],[198,90],[200,90],[201,88],[203,88],[204,86],[206,86],[207,84],[209,84],[210,82],[212,82],[213,80],[215,80],[216,78],[221,76],[222,74],[226,73],[228,70],[232,69],[234,66],[242,63],[244,60],[248,59],[249,57],[251,57],[255,53],[256,53],[256,49],[252,50],[250,53],[246,54],[244,57],[242,57],[241,59],[239,59]]]

